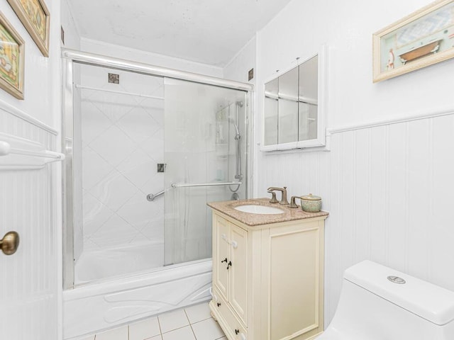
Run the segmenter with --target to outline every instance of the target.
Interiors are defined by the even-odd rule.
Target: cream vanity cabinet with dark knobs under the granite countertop
[[[210,310],[229,340],[303,340],[321,334],[328,215],[321,213],[301,212],[299,220],[270,224],[258,215],[263,224],[247,225],[213,210]]]

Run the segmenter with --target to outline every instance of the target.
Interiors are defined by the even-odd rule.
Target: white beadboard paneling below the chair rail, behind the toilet
[[[454,115],[331,136],[330,152],[260,153],[265,186],[322,196],[326,220],[326,325],[345,268],[364,259],[454,290]],[[284,169],[284,170],[283,170]]]

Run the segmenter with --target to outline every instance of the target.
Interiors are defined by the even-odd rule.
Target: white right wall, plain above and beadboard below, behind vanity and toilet
[[[449,216],[454,60],[372,84],[372,33],[429,2],[294,0],[257,34],[256,143],[265,80],[296,65],[297,57],[313,55],[321,44],[329,47],[328,128],[404,119],[338,132],[331,137],[331,152],[267,154],[255,146],[255,196],[267,196],[268,186],[288,186],[289,196],[322,196],[323,209],[330,212],[326,324],[336,310],[343,270],[362,259],[454,290],[448,269],[454,258]],[[416,113],[448,115],[405,122]]]

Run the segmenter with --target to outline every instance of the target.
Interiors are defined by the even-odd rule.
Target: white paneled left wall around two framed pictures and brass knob
[[[24,100],[0,89],[0,132],[60,149],[60,1],[46,0],[50,11],[50,51],[43,57],[6,0],[1,12],[25,40]],[[18,251],[3,256],[11,273],[0,285],[1,339],[62,339],[61,328],[61,179],[59,164],[40,170],[0,171],[1,237],[16,230]]]

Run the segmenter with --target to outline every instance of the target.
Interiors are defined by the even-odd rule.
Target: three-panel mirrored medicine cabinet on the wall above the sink
[[[262,151],[325,145],[326,47],[265,84]]]

